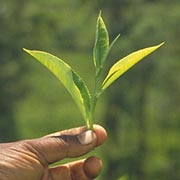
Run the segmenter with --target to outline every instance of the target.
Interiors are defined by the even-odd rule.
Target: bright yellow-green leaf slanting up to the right
[[[164,43],[160,45],[148,47],[141,49],[139,51],[133,52],[128,56],[120,59],[115,63],[109,70],[108,75],[106,76],[104,82],[102,83],[102,91],[104,91],[109,85],[111,85],[116,79],[118,79],[122,74],[124,74],[128,69],[138,63],[147,55],[151,54],[153,51],[160,48]]]

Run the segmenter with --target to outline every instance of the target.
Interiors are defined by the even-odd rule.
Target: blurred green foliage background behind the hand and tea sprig
[[[100,9],[110,39],[121,34],[106,71],[132,51],[166,44],[101,97],[96,123],[109,138],[93,152],[104,163],[97,179],[179,180],[179,0],[0,0],[0,141],[84,125],[64,87],[22,48],[64,59],[92,91]]]

